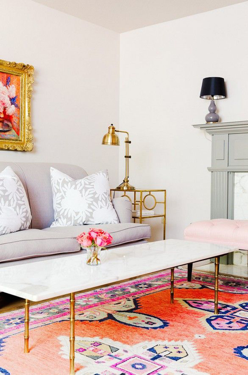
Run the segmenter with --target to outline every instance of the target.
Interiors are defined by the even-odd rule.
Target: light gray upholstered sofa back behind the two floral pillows
[[[80,166],[62,163],[10,163],[0,162],[0,171],[10,166],[26,190],[32,213],[31,228],[48,228],[54,221],[50,167],[54,167],[78,180],[87,176]]]

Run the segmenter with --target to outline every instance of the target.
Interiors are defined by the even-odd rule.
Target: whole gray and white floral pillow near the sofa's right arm
[[[51,167],[54,222],[51,226],[119,223],[110,200],[108,171],[81,180]]]

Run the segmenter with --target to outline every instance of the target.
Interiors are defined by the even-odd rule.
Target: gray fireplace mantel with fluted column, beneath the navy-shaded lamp
[[[248,121],[192,126],[212,135],[211,219],[233,219],[234,173],[248,172]]]

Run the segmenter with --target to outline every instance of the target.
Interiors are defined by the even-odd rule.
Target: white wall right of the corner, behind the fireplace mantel
[[[248,118],[247,17],[245,2],[121,34],[120,129],[132,141],[131,183],[167,189],[167,238],[210,218],[211,142],[191,126],[204,123],[209,105],[199,98],[202,79],[225,78],[221,121]],[[161,238],[157,220],[153,239]]]

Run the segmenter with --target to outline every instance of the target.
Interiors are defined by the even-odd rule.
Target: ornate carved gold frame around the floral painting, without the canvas
[[[33,135],[30,123],[30,99],[34,68],[32,65],[0,60],[0,71],[21,77],[20,139],[0,139],[0,149],[32,151]]]

